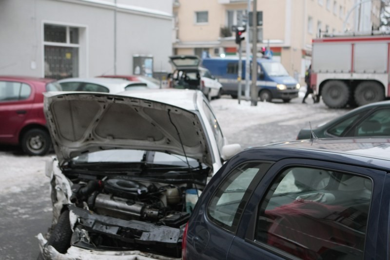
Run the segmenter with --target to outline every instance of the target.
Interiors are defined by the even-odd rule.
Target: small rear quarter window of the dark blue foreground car
[[[207,213],[215,224],[235,231],[254,185],[270,167],[268,162],[251,162],[234,169],[219,185]]]

